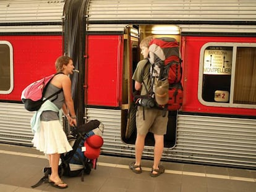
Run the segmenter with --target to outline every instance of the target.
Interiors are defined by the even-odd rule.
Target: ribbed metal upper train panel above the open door
[[[129,9],[127,8],[129,7]],[[122,31],[129,23],[173,23],[184,32],[255,33],[256,1],[90,1],[87,31]],[[248,23],[243,25],[243,21]],[[113,24],[113,21],[116,21]],[[229,25],[230,22],[236,25]],[[252,23],[250,23],[252,22]],[[189,23],[186,25],[184,23]],[[214,25],[209,25],[214,23]],[[108,24],[108,25],[106,25]]]

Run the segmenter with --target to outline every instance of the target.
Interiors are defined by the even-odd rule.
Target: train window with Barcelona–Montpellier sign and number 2
[[[256,44],[205,44],[200,52],[198,99],[206,106],[255,108]]]

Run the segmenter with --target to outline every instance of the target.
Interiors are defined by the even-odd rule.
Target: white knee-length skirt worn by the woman
[[[32,143],[45,154],[62,154],[72,150],[59,120],[41,121],[40,131],[35,133]]]

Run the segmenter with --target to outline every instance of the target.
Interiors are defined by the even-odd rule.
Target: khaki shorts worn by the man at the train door
[[[156,135],[165,135],[168,123],[168,111],[163,117],[163,110],[161,109],[148,109],[144,108],[143,120],[143,107],[139,106],[136,113],[136,127],[137,133],[146,135],[149,132]]]

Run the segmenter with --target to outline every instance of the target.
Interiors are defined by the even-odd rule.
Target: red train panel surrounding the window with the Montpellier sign
[[[200,75],[200,50],[207,43],[256,43],[256,38],[246,37],[215,37],[215,36],[184,36],[182,38],[184,46],[182,52],[184,74],[184,102],[182,112],[196,112],[207,114],[226,115],[255,115],[255,109],[242,107],[215,107],[206,106],[198,100],[198,78]],[[255,46],[255,44],[254,44]],[[201,61],[202,62],[202,61]],[[246,64],[244,64],[246,66]]]

